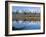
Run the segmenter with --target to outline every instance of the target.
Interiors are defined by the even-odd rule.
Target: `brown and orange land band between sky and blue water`
[[[12,16],[13,20],[40,21],[40,14],[16,14]]]

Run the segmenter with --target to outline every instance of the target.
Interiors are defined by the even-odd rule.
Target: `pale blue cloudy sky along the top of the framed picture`
[[[40,11],[41,11],[40,7],[13,6],[12,11],[16,12],[16,10],[19,10],[19,12],[21,12],[21,11],[27,11],[27,12],[31,11],[32,13],[34,13],[34,12],[40,13]]]

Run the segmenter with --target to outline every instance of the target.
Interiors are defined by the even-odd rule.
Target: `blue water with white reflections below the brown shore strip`
[[[40,22],[36,21],[13,21],[13,30],[34,30],[40,29]]]

